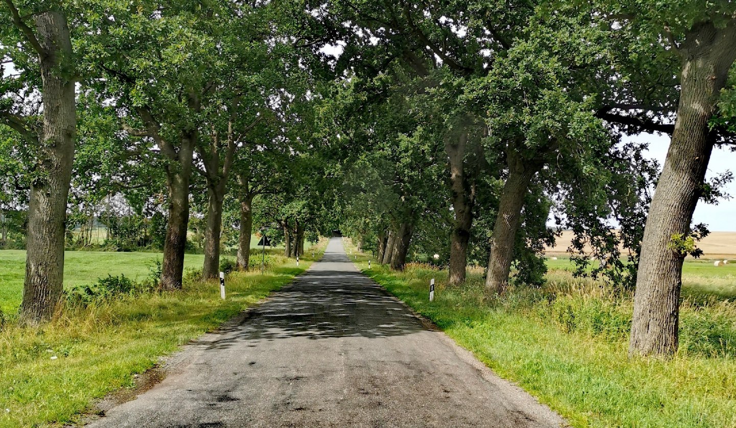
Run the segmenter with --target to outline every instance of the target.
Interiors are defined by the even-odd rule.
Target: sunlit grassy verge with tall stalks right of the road
[[[478,273],[463,288],[447,288],[447,271],[408,265],[397,273],[375,263],[368,270],[367,258],[358,257],[366,274],[574,427],[736,427],[736,304],[729,299],[686,299],[681,351],[630,360],[630,296],[613,298],[583,281],[491,299]],[[436,299],[428,302],[433,277]]]

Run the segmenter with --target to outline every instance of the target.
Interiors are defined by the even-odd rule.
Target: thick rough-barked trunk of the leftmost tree
[[[66,17],[58,12],[35,16],[43,83],[43,129],[39,135],[28,207],[26,277],[21,322],[36,324],[50,318],[61,299],[64,279],[64,223],[74,160],[77,115],[73,71],[63,62],[72,57]]]

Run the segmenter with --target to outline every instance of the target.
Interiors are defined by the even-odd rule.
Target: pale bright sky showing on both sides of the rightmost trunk
[[[632,137],[631,140],[648,142],[649,157],[659,161],[660,167],[664,165],[670,144],[668,136],[640,134]],[[729,146],[724,146],[723,149],[713,149],[706,178],[710,179],[726,171],[736,174],[736,151],[730,151]],[[721,199],[718,205],[698,201],[698,207],[693,215],[693,224],[707,224],[711,232],[736,232],[736,182],[726,185],[725,191],[732,196],[732,199]]]

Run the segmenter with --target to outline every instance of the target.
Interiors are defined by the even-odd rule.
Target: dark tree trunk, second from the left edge
[[[184,272],[187,226],[189,224],[189,180],[191,160],[197,132],[183,134],[177,161],[166,165],[166,184],[169,187],[169,223],[163,243],[163,266],[160,288],[180,290]]]

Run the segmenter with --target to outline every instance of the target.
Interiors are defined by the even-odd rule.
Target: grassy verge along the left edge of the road
[[[316,257],[323,250],[320,246]],[[145,272],[155,254],[82,253],[116,263],[99,268]],[[308,253],[311,255],[311,252]],[[105,256],[112,257],[110,259]],[[125,260],[115,260],[121,257]],[[130,257],[139,257],[132,260]],[[154,366],[159,357],[218,327],[272,290],[290,282],[311,265],[270,254],[265,274],[235,272],[227,278],[227,300],[216,282],[186,284],[174,293],[147,293],[87,307],[67,309],[50,324],[21,328],[10,324],[0,332],[0,427],[45,427],[74,424],[91,402],[133,384],[134,374]],[[79,263],[85,265],[84,257]],[[200,259],[201,260],[201,259]],[[196,260],[189,259],[190,262]],[[199,263],[194,263],[199,266]],[[18,276],[22,263],[11,266]],[[114,274],[114,272],[112,272]],[[22,275],[21,275],[22,276]],[[81,277],[79,280],[83,280]],[[52,357],[57,357],[52,360]],[[6,409],[8,411],[6,411]]]

